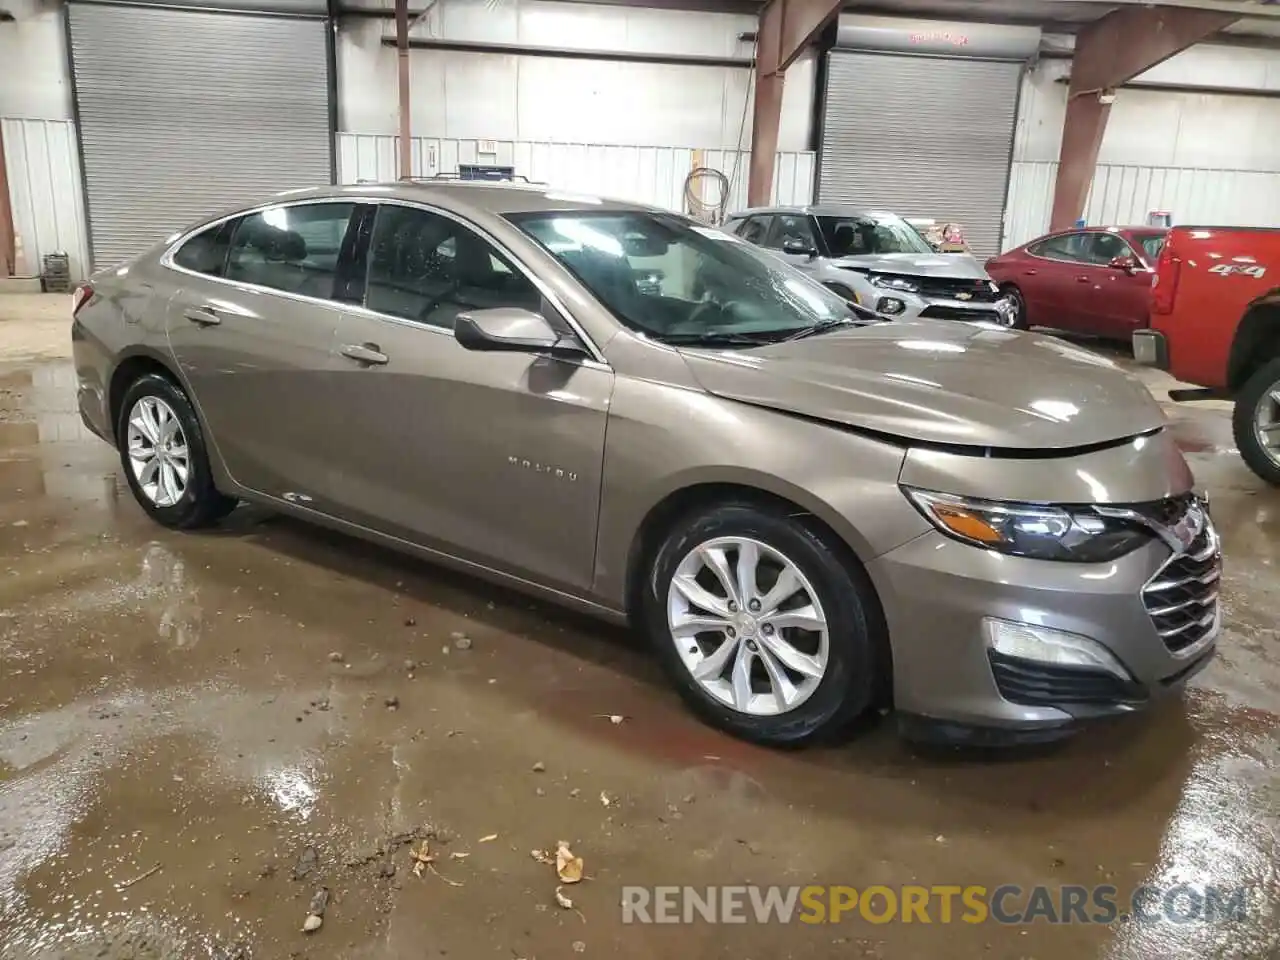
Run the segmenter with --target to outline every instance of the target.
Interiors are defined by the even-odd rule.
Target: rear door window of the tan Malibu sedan
[[[242,218],[227,279],[330,300],[355,204],[273,206]]]

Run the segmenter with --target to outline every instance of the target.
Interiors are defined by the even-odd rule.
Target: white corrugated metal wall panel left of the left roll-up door
[[[0,124],[9,198],[27,273],[38,274],[46,253],[67,253],[72,279],[84,279],[88,248],[76,125],[70,120],[12,119],[0,119]]]

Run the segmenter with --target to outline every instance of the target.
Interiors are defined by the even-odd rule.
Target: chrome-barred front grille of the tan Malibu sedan
[[[1171,653],[1197,648],[1217,630],[1222,554],[1206,525],[1183,553],[1170,557],[1142,590],[1156,632]]]

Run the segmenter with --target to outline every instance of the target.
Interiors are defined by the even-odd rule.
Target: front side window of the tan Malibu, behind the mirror
[[[452,330],[458,314],[539,311],[541,293],[493,244],[457,220],[398,204],[378,209],[365,306]]]

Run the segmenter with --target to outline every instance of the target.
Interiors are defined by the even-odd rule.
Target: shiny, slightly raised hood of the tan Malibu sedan
[[[1147,388],[1041,334],[915,320],[749,349],[685,349],[717,397],[923,443],[1073,448],[1160,428]]]

